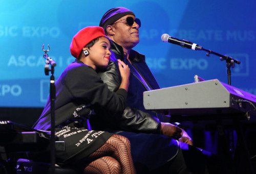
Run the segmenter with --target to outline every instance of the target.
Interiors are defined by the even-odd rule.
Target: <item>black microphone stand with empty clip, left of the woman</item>
[[[50,139],[50,147],[51,147],[51,173],[55,173],[55,99],[56,99],[56,90],[55,90],[55,80],[54,80],[54,66],[56,66],[56,62],[51,59],[47,52],[50,51],[50,46],[48,45],[49,49],[44,49],[45,44],[42,45],[42,51],[45,52],[44,58],[46,60],[45,65],[45,74],[49,76],[49,71],[51,71],[51,78],[50,78],[50,101],[51,101],[51,139]],[[51,68],[49,68],[51,65]]]

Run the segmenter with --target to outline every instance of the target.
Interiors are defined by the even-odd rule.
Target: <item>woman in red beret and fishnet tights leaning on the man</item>
[[[96,73],[110,61],[110,40],[101,27],[80,30],[70,45],[76,60],[56,81],[55,126],[66,151],[56,152],[56,162],[86,173],[135,173],[127,138],[90,129],[94,110],[122,113],[126,105],[130,69],[119,61],[122,83],[111,92]],[[50,130],[50,100],[33,128]]]

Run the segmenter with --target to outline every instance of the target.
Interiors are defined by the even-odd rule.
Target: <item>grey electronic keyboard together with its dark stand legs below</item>
[[[239,158],[244,157],[243,163],[236,165],[242,165],[248,173],[254,173],[244,131],[245,128],[255,129],[255,95],[214,79],[145,91],[143,105],[146,110],[169,114],[172,122],[193,121],[192,125],[196,129],[205,122],[216,122],[221,146],[224,149],[223,156],[228,161],[230,171],[235,169],[231,156],[233,134],[230,129],[236,130],[237,140],[241,146]],[[224,126],[225,121],[228,122],[227,126]]]

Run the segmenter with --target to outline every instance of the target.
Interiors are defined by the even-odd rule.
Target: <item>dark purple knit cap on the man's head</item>
[[[135,16],[135,14],[131,10],[126,9],[124,7],[110,9],[101,18],[99,26],[106,30],[107,26],[113,24],[115,21],[128,14]]]

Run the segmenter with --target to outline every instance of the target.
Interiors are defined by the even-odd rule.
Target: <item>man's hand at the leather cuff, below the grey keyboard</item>
[[[168,137],[173,137],[174,139],[177,139],[189,145],[193,145],[193,141],[187,135],[186,131],[175,125],[172,125],[171,123],[161,122],[161,134]]]

